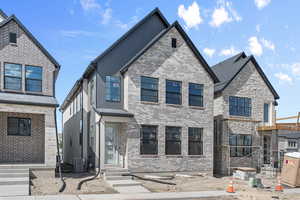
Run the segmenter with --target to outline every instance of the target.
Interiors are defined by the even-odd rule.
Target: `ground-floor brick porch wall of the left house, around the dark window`
[[[8,115],[32,118],[32,137],[29,139],[21,136],[6,136],[6,118]],[[1,163],[19,162],[23,159],[26,163],[44,163],[44,166],[47,168],[55,167],[56,135],[54,108],[0,104],[0,118],[0,152],[3,152],[0,158]],[[20,149],[19,144],[23,144],[24,149]],[[30,145],[32,146],[29,147]],[[28,149],[25,147],[28,147]],[[3,155],[9,155],[9,157]],[[14,155],[17,155],[16,159]],[[19,156],[24,156],[24,158]]]

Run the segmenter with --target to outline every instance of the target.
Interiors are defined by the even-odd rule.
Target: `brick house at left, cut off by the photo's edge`
[[[60,65],[0,10],[0,164],[56,165],[55,82]]]

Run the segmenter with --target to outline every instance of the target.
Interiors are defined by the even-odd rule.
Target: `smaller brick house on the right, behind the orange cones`
[[[244,52],[212,70],[220,80],[214,97],[214,172],[230,174],[237,167],[270,164],[278,158],[273,151],[277,136],[259,128],[275,124],[275,89],[255,58]]]

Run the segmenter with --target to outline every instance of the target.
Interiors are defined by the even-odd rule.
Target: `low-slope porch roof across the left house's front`
[[[8,104],[36,105],[36,106],[55,106],[58,102],[51,96],[16,94],[0,92],[0,102]]]

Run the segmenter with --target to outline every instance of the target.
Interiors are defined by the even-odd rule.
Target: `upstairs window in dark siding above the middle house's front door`
[[[106,101],[121,101],[121,81],[120,77],[106,76],[105,80]]]

